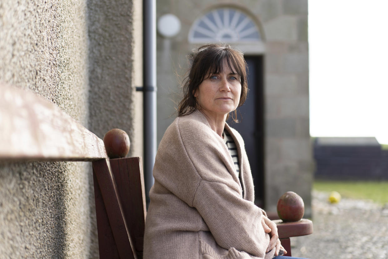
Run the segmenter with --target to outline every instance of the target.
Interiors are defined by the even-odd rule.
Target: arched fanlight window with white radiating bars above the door
[[[189,42],[258,42],[260,31],[246,14],[232,8],[218,8],[199,17],[189,31]]]

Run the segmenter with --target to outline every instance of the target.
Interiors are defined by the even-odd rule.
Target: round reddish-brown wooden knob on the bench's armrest
[[[293,191],[284,193],[277,201],[277,215],[284,221],[299,221],[305,214],[305,203]]]

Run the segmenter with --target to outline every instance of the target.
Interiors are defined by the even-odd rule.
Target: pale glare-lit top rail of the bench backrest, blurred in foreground
[[[29,90],[0,83],[0,159],[92,161],[104,142]]]

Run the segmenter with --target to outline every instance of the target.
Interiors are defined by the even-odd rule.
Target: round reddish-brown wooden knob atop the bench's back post
[[[122,158],[128,154],[130,141],[124,130],[111,129],[106,132],[103,140],[109,158]]]

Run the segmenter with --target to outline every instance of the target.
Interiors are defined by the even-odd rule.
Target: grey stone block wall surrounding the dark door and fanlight
[[[295,191],[305,202],[305,217],[310,217],[313,160],[307,0],[158,0],[157,19],[174,14],[181,23],[177,36],[157,38],[158,141],[176,116],[182,82],[179,75],[184,75],[188,67],[186,55],[201,45],[189,42],[189,31],[197,19],[218,8],[244,14],[261,33],[259,42],[232,45],[245,54],[262,55],[264,60],[265,209],[276,212],[279,197],[286,191]]]

